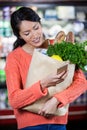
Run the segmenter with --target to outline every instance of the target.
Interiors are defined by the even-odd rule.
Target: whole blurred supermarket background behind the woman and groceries
[[[16,120],[8,103],[5,63],[16,37],[10,27],[10,15],[21,6],[33,8],[41,17],[43,33],[51,43],[63,30],[73,31],[75,42],[87,40],[87,1],[84,0],[0,0],[0,130],[16,130]],[[84,73],[87,78],[87,73]],[[81,123],[80,123],[81,122]],[[87,130],[87,92],[70,104],[67,130]],[[82,125],[81,125],[82,124]]]

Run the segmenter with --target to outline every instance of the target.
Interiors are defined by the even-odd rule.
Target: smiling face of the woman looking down
[[[43,42],[42,27],[39,22],[24,20],[20,24],[20,37],[29,45],[39,47]]]

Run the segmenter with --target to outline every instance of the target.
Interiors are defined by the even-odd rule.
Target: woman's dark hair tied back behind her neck
[[[13,49],[16,49],[17,47],[23,46],[25,44],[25,41],[21,39],[19,35],[19,31],[20,31],[19,25],[23,20],[40,23],[39,15],[29,7],[21,7],[15,12],[13,12],[11,14],[10,23],[11,23],[11,27],[12,27],[14,35],[17,37],[17,40],[15,41],[13,45]]]

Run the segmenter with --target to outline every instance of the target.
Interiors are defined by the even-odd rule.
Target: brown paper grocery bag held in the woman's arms
[[[57,72],[57,69],[67,65],[68,66],[68,75],[66,79],[56,85],[55,87],[48,88],[48,95],[42,97],[41,99],[37,100],[36,102],[32,103],[29,106],[24,107],[24,110],[38,113],[38,111],[43,107],[44,103],[51,98],[54,94],[59,93],[66,89],[73,80],[75,65],[70,64],[69,61],[57,61],[47,55],[40,53],[37,49],[34,50],[32,61],[30,64],[30,68],[27,75],[27,80],[25,87],[29,87],[35,82],[43,79],[47,75]],[[69,104],[64,107],[58,108],[55,115],[64,115],[68,111]]]

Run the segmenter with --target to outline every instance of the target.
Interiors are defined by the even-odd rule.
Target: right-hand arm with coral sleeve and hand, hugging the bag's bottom
[[[49,115],[51,117],[57,110],[72,101],[87,90],[87,81],[81,70],[77,70],[74,75],[73,83],[64,91],[55,94],[49,99],[39,111],[41,115]]]

